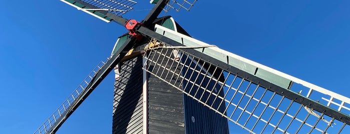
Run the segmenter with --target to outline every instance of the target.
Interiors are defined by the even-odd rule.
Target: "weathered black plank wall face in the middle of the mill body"
[[[167,56],[171,52],[168,52]],[[164,55],[150,55],[154,58],[164,58]],[[150,63],[150,62],[148,62]],[[162,66],[170,68],[171,64],[161,63]],[[165,76],[168,70],[159,67],[159,65],[150,64],[148,70],[158,70]],[[178,68],[171,68],[179,73]],[[159,79],[158,77],[147,73],[148,76],[148,132],[149,133],[185,133],[184,124],[184,107],[183,107],[183,93]],[[172,79],[175,82],[176,77],[172,74],[167,75],[167,80]],[[176,81],[180,84],[180,80]]]

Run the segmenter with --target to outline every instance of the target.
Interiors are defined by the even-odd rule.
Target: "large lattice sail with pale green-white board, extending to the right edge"
[[[156,32],[178,45],[154,34],[163,45],[147,48],[143,68],[251,133],[339,133],[348,127],[345,96],[162,26]],[[167,56],[174,50],[181,60]],[[211,82],[217,86],[209,88]]]

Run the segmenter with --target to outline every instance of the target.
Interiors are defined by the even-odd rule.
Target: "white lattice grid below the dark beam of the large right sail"
[[[144,69],[252,133],[340,133],[349,125],[173,48],[148,48]],[[166,67],[165,64],[171,64]],[[180,70],[180,73],[177,73]],[[204,77],[204,78],[200,78]],[[214,86],[208,86],[215,83]],[[224,110],[220,109],[226,106]],[[345,130],[345,131],[346,131]]]

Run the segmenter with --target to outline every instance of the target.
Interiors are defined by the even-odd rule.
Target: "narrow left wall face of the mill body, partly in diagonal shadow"
[[[112,133],[142,132],[142,57],[120,63],[114,85]]]

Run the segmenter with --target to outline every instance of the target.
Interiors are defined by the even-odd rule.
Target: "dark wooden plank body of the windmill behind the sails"
[[[157,19],[154,23],[188,34],[170,16]],[[125,41],[126,36],[121,36],[116,45],[122,44],[120,42]],[[114,90],[113,133],[138,133],[143,129],[147,129],[149,133],[228,133],[226,118],[142,69],[147,63],[153,70],[159,69],[162,75],[167,73],[159,67],[155,68],[154,63],[147,62],[144,58],[143,54],[148,54],[147,51],[143,51],[144,47],[149,44],[156,45],[148,42],[129,51],[130,55],[125,56],[125,60],[115,68],[117,80]],[[164,55],[159,53],[147,56],[159,58],[165,58],[165,55],[173,58],[177,56],[165,51],[161,54]],[[184,61],[184,58],[181,59],[181,62],[184,63]],[[165,63],[163,65],[171,66]],[[180,73],[180,70],[177,70],[177,73]],[[172,78],[174,77],[167,77],[168,80]],[[180,80],[182,79],[179,79],[176,84],[182,84],[183,88],[186,83],[181,83]],[[212,82],[209,86],[213,87],[214,84]],[[224,109],[225,106],[222,105],[220,110]],[[147,127],[143,127],[144,125]]]

